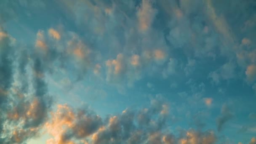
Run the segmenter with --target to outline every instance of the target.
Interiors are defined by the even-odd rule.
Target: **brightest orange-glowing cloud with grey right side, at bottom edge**
[[[73,110],[65,105],[58,105],[52,118],[45,123],[48,133],[53,136],[48,139],[49,143],[75,143],[77,139],[90,136],[101,125],[99,115],[95,115],[89,109]]]

